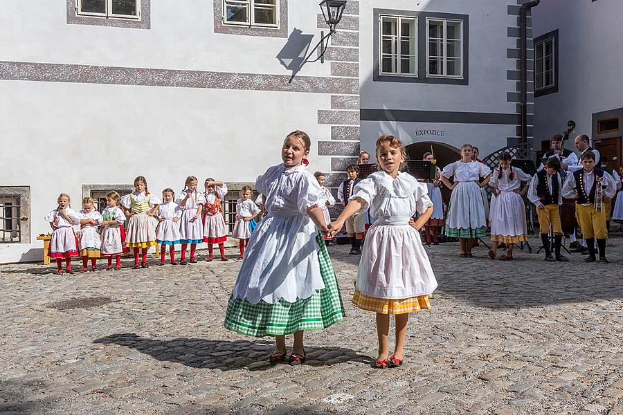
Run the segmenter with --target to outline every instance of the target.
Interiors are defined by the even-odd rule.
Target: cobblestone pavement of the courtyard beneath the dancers
[[[270,338],[223,329],[240,260],[1,266],[0,413],[623,414],[623,239],[609,245],[608,265],[428,248],[433,309],[411,315],[406,364],[386,371],[370,368],[374,315],[350,304],[345,246],[329,252],[347,318],[307,334],[302,367],[270,367]]]

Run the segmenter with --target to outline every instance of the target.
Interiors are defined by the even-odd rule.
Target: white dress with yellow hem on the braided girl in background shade
[[[501,176],[501,177],[500,177]],[[489,185],[497,187],[500,194],[491,201],[491,241],[519,243],[527,241],[527,221],[525,205],[519,190],[521,182],[529,182],[532,176],[522,169],[509,167],[496,169]]]

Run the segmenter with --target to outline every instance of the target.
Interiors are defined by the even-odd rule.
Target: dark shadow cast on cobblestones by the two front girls
[[[274,344],[266,340],[208,340],[202,338],[174,338],[158,340],[142,338],[136,333],[116,333],[93,341],[98,344],[118,344],[136,349],[156,360],[176,362],[197,369],[269,369],[269,357]],[[330,366],[343,362],[370,364],[370,357],[343,347],[305,347],[305,365]]]

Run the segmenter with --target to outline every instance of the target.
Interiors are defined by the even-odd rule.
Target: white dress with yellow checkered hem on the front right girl
[[[374,172],[359,182],[350,200],[363,200],[377,220],[370,226],[359,261],[355,306],[381,314],[404,314],[429,309],[437,288],[431,262],[419,232],[409,219],[433,206],[425,183],[399,172],[392,178]]]

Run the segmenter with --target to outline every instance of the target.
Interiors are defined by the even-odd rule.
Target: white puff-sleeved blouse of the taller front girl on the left
[[[308,216],[308,208],[322,208],[327,201],[325,192],[305,165],[287,168],[280,164],[270,167],[258,177],[255,188],[268,195],[265,209],[275,216]]]

